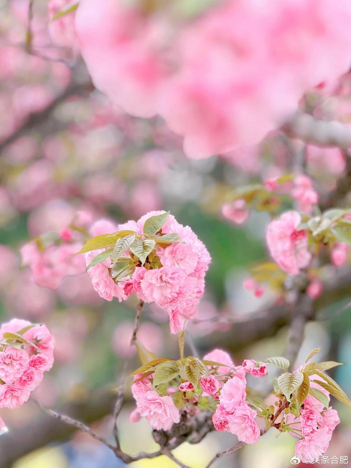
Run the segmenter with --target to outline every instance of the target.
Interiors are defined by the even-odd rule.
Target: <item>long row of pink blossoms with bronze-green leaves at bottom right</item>
[[[318,351],[313,350],[306,362]],[[210,411],[214,428],[231,432],[239,441],[257,443],[264,432],[275,427],[298,438],[296,456],[316,458],[327,449],[339,423],[336,410],[329,407],[329,394],[351,406],[343,390],[324,372],[339,364],[309,362],[288,372],[289,362],[276,357],[265,362],[245,360],[235,366],[220,349],[202,360],[154,359],[134,372],[136,409],[130,420],[145,417],[153,429],[167,431],[181,419]],[[246,375],[265,377],[267,365],[284,372],[274,380],[273,393],[262,399],[247,387]]]

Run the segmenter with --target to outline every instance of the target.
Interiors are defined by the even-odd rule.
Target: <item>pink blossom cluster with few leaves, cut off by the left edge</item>
[[[54,339],[45,325],[12,319],[0,327],[0,408],[23,405],[54,363]],[[1,430],[1,428],[0,428]]]

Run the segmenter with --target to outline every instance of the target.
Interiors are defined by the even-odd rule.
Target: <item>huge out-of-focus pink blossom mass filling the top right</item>
[[[75,26],[95,86],[133,115],[159,113],[192,157],[262,140],[349,69],[347,0],[185,5],[81,0]]]

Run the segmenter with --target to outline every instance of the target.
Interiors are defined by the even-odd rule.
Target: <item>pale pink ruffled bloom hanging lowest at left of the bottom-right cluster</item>
[[[149,390],[136,400],[140,416],[145,417],[156,430],[169,430],[180,421],[177,407],[170,396],[159,396],[155,390]]]

